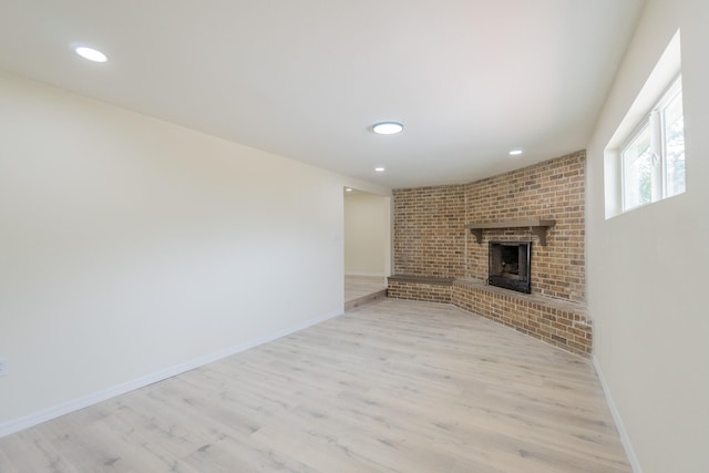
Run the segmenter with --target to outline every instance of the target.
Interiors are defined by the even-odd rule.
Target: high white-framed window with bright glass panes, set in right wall
[[[685,192],[681,76],[640,122],[620,160],[624,212]]]

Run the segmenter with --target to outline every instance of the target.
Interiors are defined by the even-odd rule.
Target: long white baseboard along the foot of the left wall
[[[220,360],[223,358],[229,357],[232,354],[239,353],[242,351],[246,351],[250,348],[257,347],[259,345],[267,343],[269,341],[277,340],[281,337],[286,337],[290,333],[297,332],[299,330],[306,329],[308,327],[315,326],[317,323],[323,322],[326,320],[332,319],[335,317],[339,317],[342,315],[342,311],[331,312],[326,316],[317,317],[310,320],[306,320],[305,322],[298,323],[296,326],[279,330],[275,333],[270,333],[265,337],[259,337],[254,340],[246,341],[244,343],[236,345],[234,347],[226,348],[224,350],[219,350],[217,352],[205,354],[204,357],[196,358],[194,360],[189,360],[185,363],[181,363],[171,368],[166,368],[164,370],[146,374],[144,377],[134,379],[132,381],[127,381],[105,390],[94,392],[93,394],[84,395],[68,402],[63,402],[59,405],[54,405],[52,408],[43,409],[38,412],[33,412],[29,415],[21,417],[19,419],[0,423],[0,438],[10,435],[11,433],[19,432],[24,429],[29,429],[31,426],[38,425],[42,422],[50,421],[52,419],[56,419],[61,415],[68,414],[70,412],[78,411],[80,409],[88,408],[90,405],[96,404],[99,402],[105,401],[107,399],[114,398],[116,395],[124,394],[129,391],[133,391],[140,388],[144,388],[148,384],[153,384],[158,381],[163,381],[167,378],[172,378],[174,376],[184,373],[189,370],[194,370],[195,368],[203,367],[205,364],[212,363],[214,361]]]

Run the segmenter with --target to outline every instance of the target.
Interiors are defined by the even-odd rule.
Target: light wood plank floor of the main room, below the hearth
[[[592,364],[381,299],[0,439],[0,472],[629,472]]]

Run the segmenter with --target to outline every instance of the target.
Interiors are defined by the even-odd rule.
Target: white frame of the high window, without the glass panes
[[[666,143],[666,127],[665,111],[679,95],[681,100],[682,84],[681,74],[678,74],[667,90],[662,93],[661,97],[655,103],[651,111],[644,116],[644,119],[635,126],[633,133],[625,140],[620,146],[620,185],[621,185],[621,212],[633,210],[635,208],[643,207],[645,205],[684,193],[678,192],[676,194],[668,194],[667,189],[667,143]],[[651,184],[650,184],[650,200],[643,204],[628,203],[628,181],[627,168],[629,163],[626,162],[626,152],[635,143],[646,130],[650,133],[650,154],[653,158],[651,164]]]

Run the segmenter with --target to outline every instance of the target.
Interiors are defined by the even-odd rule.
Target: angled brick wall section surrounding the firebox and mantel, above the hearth
[[[487,278],[487,243],[532,240],[532,294],[583,302],[585,292],[585,163],[577,152],[465,186],[465,222],[555,219],[541,246],[520,228],[484,230],[481,244],[466,234],[467,278]]]

